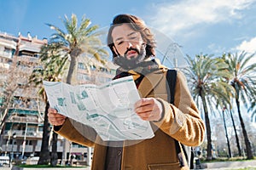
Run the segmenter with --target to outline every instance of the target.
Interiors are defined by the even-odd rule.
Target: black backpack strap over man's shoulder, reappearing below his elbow
[[[166,80],[167,80],[166,87],[167,87],[167,93],[168,93],[168,101],[172,105],[174,105],[176,78],[177,78],[177,71],[169,69],[166,73]],[[175,141],[175,149],[177,152],[177,158],[179,160],[180,167],[184,167],[185,163],[183,161],[182,151],[180,150],[179,142],[176,139],[174,139],[174,141]]]

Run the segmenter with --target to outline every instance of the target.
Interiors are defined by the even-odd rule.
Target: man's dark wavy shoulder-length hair
[[[137,16],[131,14],[119,14],[113,18],[113,23],[108,30],[108,47],[112,51],[113,58],[117,57],[117,54],[115,54],[115,52],[113,51],[114,44],[112,31],[115,26],[120,26],[122,24],[129,24],[129,26],[131,26],[131,29],[133,29],[134,31],[139,31],[143,37],[143,40],[146,40],[146,58],[152,55],[155,56],[154,48],[156,42],[154,41],[154,35],[145,25],[144,21]]]

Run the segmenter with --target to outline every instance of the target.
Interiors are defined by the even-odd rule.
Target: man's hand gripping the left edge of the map
[[[54,126],[61,126],[65,122],[66,116],[61,115],[53,108],[49,108],[48,120],[49,120],[49,123]]]

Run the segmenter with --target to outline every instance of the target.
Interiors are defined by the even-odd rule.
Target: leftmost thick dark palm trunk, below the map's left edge
[[[45,111],[44,111],[44,130],[43,130],[43,139],[41,145],[40,158],[38,165],[48,165],[49,164],[49,122],[48,122],[48,109],[49,102],[46,102]]]

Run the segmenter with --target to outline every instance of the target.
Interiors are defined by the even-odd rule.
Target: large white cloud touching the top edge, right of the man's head
[[[249,8],[255,0],[183,0],[177,3],[154,4],[150,24],[169,36],[189,32],[194,26],[241,19],[239,10]]]

